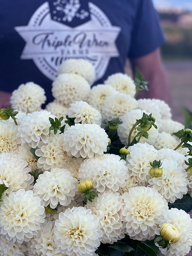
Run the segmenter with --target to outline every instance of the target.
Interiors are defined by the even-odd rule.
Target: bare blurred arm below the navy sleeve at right
[[[170,98],[170,88],[161,63],[159,48],[147,55],[130,59],[130,61],[133,74],[135,68],[138,67],[144,79],[149,82],[148,92],[140,91],[139,97],[155,98],[168,102]]]

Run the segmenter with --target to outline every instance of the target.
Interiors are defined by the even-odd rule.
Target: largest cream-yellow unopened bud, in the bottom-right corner
[[[159,233],[161,237],[169,244],[174,244],[179,241],[180,233],[178,228],[171,223],[164,223],[161,225]]]

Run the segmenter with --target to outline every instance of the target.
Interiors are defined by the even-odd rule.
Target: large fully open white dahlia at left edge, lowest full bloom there
[[[0,202],[0,234],[13,243],[28,242],[42,228],[44,211],[41,199],[31,190],[20,189],[4,196]]]

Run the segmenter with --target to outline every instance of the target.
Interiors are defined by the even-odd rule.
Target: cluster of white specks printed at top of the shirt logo
[[[62,17],[62,20],[67,20],[68,22],[71,22],[74,17],[84,20],[86,17],[89,16],[89,12],[85,10],[81,10],[80,12],[78,12],[81,6],[79,0],[57,0],[53,2],[53,5],[55,6],[55,9],[53,11],[53,14],[55,14],[55,16],[53,17],[54,20],[61,20],[60,17],[57,17],[58,13],[60,15],[63,14],[64,16]]]

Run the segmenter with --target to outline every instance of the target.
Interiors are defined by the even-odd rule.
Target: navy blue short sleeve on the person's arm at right
[[[152,0],[139,0],[128,57],[138,58],[153,52],[164,41],[164,34]]]

